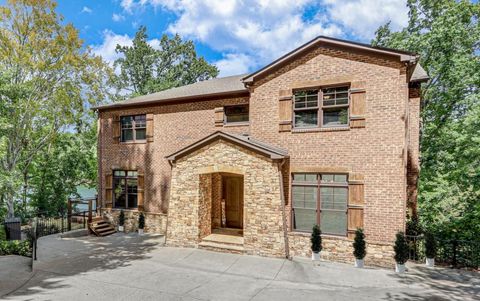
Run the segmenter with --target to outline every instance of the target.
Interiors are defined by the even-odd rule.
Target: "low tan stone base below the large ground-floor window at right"
[[[310,233],[288,234],[288,242],[291,256],[311,257]],[[322,235],[322,251],[320,256],[322,259],[353,263],[353,240],[346,237],[334,237]],[[367,256],[365,257],[365,265],[393,267],[395,261],[393,258],[393,246],[387,243],[371,242],[367,240]]]

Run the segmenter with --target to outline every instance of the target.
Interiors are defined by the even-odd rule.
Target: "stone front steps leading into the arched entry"
[[[202,239],[198,244],[199,249],[244,254],[243,237],[225,234],[210,234]]]

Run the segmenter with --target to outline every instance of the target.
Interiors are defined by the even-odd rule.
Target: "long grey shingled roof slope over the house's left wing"
[[[158,101],[169,101],[174,99],[220,96],[223,94],[247,92],[248,90],[245,88],[245,85],[242,82],[243,77],[245,77],[245,74],[213,78],[178,88],[172,88],[157,93],[134,97],[125,101],[96,106],[94,109],[115,108],[128,105],[148,104]]]

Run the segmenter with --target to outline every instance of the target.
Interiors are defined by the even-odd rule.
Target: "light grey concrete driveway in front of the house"
[[[162,237],[39,241],[28,259],[0,257],[2,300],[479,300],[480,275],[412,266],[386,269],[162,246]]]

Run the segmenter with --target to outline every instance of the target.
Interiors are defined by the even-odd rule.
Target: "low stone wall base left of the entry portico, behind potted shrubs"
[[[109,223],[118,226],[119,209],[104,208],[101,210],[102,216],[107,219]],[[138,230],[138,217],[140,211],[137,210],[123,210],[125,213],[125,233],[136,232]],[[145,233],[165,234],[167,227],[167,215],[163,213],[144,212],[145,215]]]

